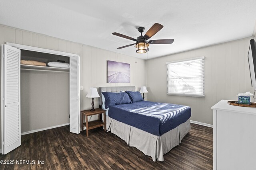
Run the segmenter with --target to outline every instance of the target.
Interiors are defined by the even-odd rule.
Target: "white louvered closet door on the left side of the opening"
[[[2,154],[20,140],[20,49],[2,45]]]

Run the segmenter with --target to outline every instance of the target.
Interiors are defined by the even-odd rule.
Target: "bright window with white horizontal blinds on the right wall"
[[[204,97],[204,57],[166,63],[167,94]]]

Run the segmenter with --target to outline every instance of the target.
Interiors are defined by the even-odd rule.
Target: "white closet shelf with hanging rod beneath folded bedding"
[[[34,66],[20,64],[21,70],[34,70],[34,71],[49,71],[49,72],[69,72],[69,68],[58,68],[58,67],[48,67],[48,66]]]

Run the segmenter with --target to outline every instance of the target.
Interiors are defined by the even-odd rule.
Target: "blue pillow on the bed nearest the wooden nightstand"
[[[130,104],[130,98],[127,93],[111,93],[111,92],[102,92],[105,97],[105,108],[117,104]]]

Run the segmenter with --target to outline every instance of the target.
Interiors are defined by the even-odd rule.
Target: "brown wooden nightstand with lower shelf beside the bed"
[[[89,136],[89,130],[90,129],[94,129],[96,127],[101,127],[104,126],[104,130],[106,131],[106,110],[104,109],[95,109],[94,111],[90,111],[90,110],[83,110],[82,112],[82,125],[86,126],[86,136]],[[104,115],[104,122],[100,121],[100,114],[103,113]],[[86,122],[84,123],[84,115],[86,117]],[[95,121],[90,121],[88,122],[88,116],[92,116],[92,115],[99,115],[98,116],[98,120]],[[84,128],[82,126],[82,131],[84,131]]]

